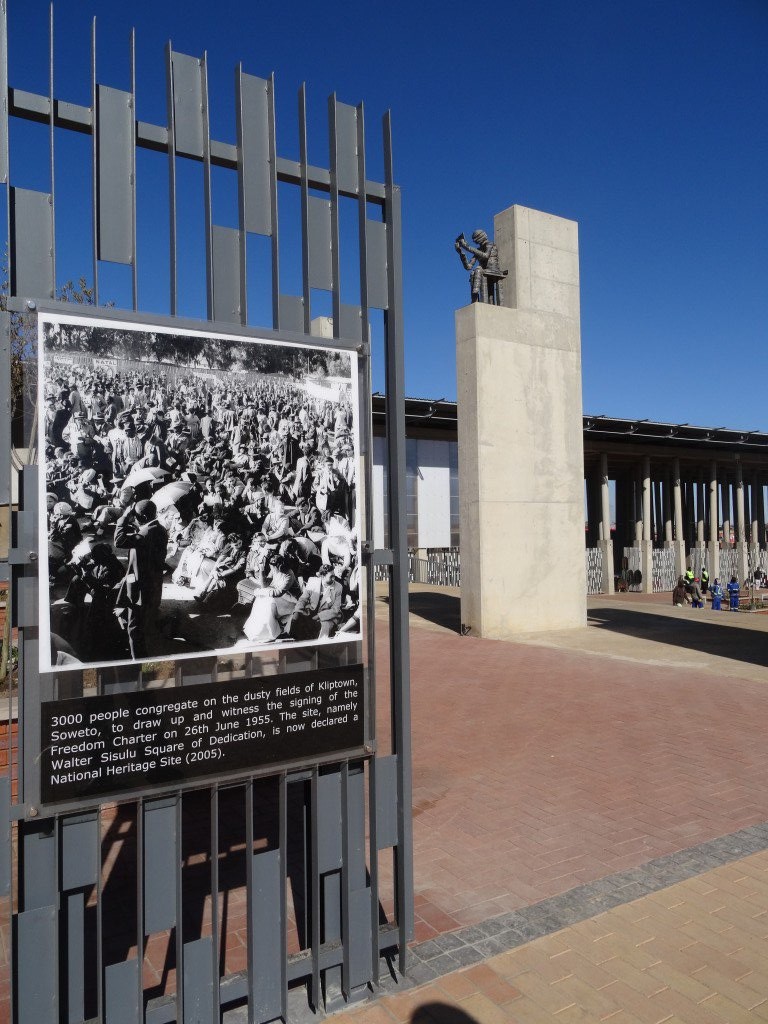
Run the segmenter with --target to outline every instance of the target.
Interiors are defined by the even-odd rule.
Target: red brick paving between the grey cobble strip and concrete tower
[[[731,664],[726,678],[414,628],[416,939],[768,820],[768,687]],[[237,889],[227,912],[229,973],[246,956]],[[164,942],[147,984],[175,981]]]

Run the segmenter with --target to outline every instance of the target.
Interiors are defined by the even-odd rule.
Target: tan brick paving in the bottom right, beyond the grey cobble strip
[[[768,852],[345,1014],[349,1024],[768,1020]]]

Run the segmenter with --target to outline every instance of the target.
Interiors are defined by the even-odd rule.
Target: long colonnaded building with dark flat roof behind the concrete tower
[[[374,541],[386,546],[385,408],[374,397]],[[409,548],[460,562],[457,403],[406,401]],[[589,593],[672,590],[691,565],[714,579],[768,571],[768,433],[584,416]],[[443,573],[443,578],[445,573]]]

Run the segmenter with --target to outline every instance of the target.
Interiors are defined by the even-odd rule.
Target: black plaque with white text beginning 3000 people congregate
[[[362,746],[364,670],[53,700],[41,711],[47,804]]]

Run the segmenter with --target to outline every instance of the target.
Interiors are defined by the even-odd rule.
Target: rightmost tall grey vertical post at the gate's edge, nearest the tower
[[[385,220],[387,224],[388,307],[386,325],[387,472],[389,536],[394,555],[390,582],[390,673],[392,737],[397,755],[396,899],[399,969],[407,967],[414,921],[411,662],[409,648],[408,545],[406,535],[406,396],[402,328],[400,190],[392,172],[392,127],[384,116]]]

